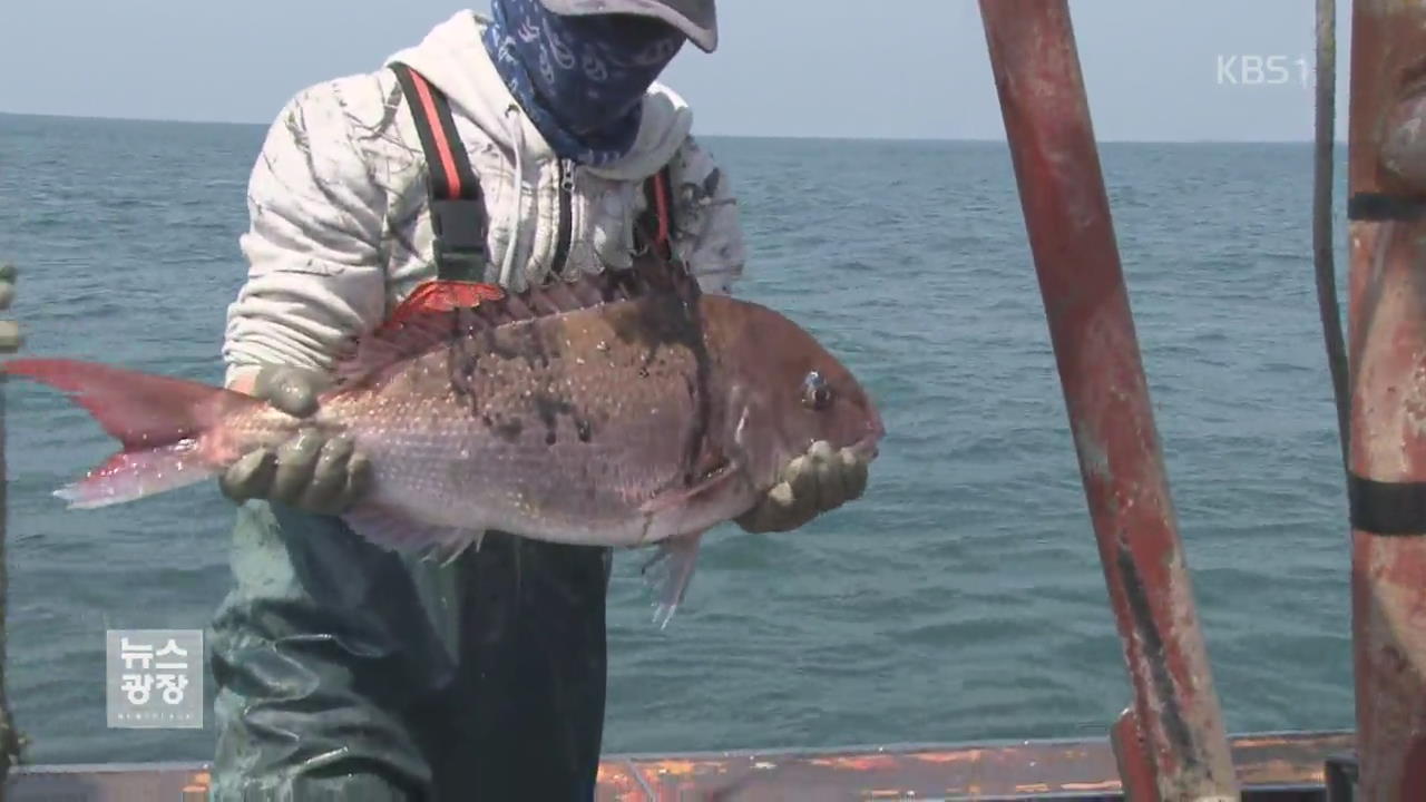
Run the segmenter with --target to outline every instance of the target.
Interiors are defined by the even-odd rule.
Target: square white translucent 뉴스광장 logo
[[[108,726],[202,729],[202,629],[106,634]]]

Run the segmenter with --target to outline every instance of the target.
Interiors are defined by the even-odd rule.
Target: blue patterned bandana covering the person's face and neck
[[[565,17],[539,0],[492,0],[485,50],[563,158],[607,164],[633,147],[643,96],[684,36],[662,20]]]

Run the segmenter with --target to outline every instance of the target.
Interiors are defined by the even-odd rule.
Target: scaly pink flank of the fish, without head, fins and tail
[[[382,391],[337,397],[318,420],[345,421],[368,454],[376,504],[434,505],[432,522],[472,531],[542,518],[539,527],[566,542],[606,542],[612,529],[639,537],[637,509],[677,487],[687,462],[697,360],[684,344],[650,352],[646,337],[620,338],[615,311],[486,330],[492,335],[459,350],[406,362]],[[452,372],[463,360],[476,370],[456,390]],[[402,421],[404,431],[366,435],[354,422],[366,418]],[[462,450],[476,457],[461,460]],[[519,489],[518,502],[506,485]]]

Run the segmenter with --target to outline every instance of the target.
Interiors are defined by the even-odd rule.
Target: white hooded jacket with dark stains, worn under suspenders
[[[463,10],[402,61],[449,101],[485,194],[488,281],[519,291],[550,274],[560,248],[560,183],[572,183],[566,274],[626,268],[643,180],[670,167],[674,253],[709,293],[743,270],[743,233],[727,177],[692,138],[693,114],[653,84],[632,151],[593,168],[562,163],[520,111],[481,41],[486,19]],[[268,131],[248,187],[241,238],[248,278],[232,305],[222,355],[244,368],[329,370],[351,337],[379,325],[435,278],[421,138],[395,73],[381,68],[312,86]]]

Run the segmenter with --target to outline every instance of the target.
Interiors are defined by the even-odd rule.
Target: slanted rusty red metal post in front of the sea
[[[1134,686],[1125,785],[1238,799],[1065,0],[981,0],[1060,381]],[[1139,802],[1142,796],[1135,796]]]

